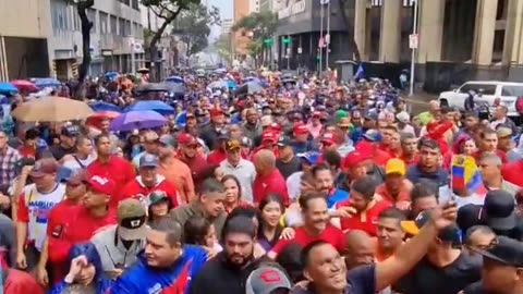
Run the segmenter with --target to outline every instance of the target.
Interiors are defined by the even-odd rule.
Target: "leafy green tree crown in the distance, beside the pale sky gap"
[[[173,23],[172,34],[187,45],[187,57],[202,52],[207,46],[210,26],[219,25],[220,11],[216,7],[191,4]]]

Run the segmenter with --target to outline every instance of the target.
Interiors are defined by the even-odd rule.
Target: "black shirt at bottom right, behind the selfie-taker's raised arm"
[[[392,289],[403,294],[455,294],[482,278],[482,264],[481,256],[467,253],[443,268],[424,258]]]

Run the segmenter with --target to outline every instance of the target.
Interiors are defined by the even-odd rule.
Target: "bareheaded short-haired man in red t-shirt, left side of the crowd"
[[[114,191],[122,191],[126,183],[133,181],[135,171],[131,162],[111,154],[111,139],[107,135],[95,138],[98,158],[87,167],[89,175],[98,175],[114,181]],[[117,207],[117,199],[111,199],[111,206]]]

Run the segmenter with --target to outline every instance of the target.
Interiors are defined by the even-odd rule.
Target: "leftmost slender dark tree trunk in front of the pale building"
[[[76,13],[78,13],[81,29],[82,29],[82,64],[78,69],[78,81],[73,89],[73,97],[75,99],[83,99],[85,97],[85,77],[89,72],[90,61],[90,29],[93,28],[93,21],[87,17],[87,9],[95,4],[95,0],[68,0],[69,4],[76,5]]]

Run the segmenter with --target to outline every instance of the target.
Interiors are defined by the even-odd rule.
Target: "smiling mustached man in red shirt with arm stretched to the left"
[[[329,223],[330,216],[325,195],[323,193],[306,194],[300,197],[299,203],[302,209],[303,225],[296,229],[292,240],[280,240],[267,254],[267,257],[275,259],[291,243],[307,246],[318,240],[325,241],[342,252],[345,245],[344,235],[340,229]]]

